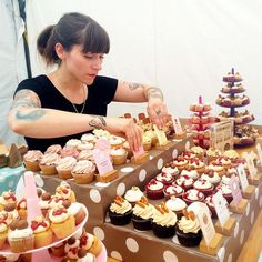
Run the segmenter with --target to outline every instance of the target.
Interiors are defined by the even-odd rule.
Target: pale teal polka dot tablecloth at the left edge
[[[1,168],[0,169],[0,193],[7,190],[16,191],[17,184],[24,168],[20,165],[18,168]]]

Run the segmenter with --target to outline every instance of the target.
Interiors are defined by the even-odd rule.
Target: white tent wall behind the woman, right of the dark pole
[[[189,104],[200,94],[213,105],[213,113],[223,110],[214,101],[222,75],[234,67],[251,99],[244,109],[262,123],[262,1],[32,0],[28,27],[34,74],[44,71],[36,59],[37,34],[71,11],[93,17],[109,32],[111,51],[101,73],[158,85],[170,112],[189,117]],[[115,103],[110,114],[144,110],[144,104]]]

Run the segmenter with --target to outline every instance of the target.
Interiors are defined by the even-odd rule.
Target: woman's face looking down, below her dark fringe
[[[102,69],[103,53],[83,53],[82,46],[73,46],[70,51],[64,51],[62,66],[77,80],[88,85],[93,83],[94,78]]]

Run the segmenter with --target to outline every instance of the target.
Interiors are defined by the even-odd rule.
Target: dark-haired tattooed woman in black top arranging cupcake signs
[[[167,108],[160,89],[98,75],[110,49],[105,30],[81,13],[67,13],[38,38],[38,51],[57,69],[22,81],[9,113],[12,130],[26,137],[30,150],[64,145],[92,129],[124,135],[132,150],[142,133],[132,119],[107,118],[111,101],[145,102],[150,119],[163,127]]]

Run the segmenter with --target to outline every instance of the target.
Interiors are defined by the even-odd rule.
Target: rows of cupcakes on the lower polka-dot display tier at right
[[[192,147],[167,163],[145,184],[144,190],[132,187],[122,196],[117,195],[109,206],[105,222],[115,225],[132,223],[137,231],[152,230],[158,238],[170,238],[175,232],[178,221],[181,226],[193,223],[183,212],[194,202],[205,203],[211,216],[216,219],[212,196],[221,191],[224,201],[231,203],[233,196],[230,180],[236,174],[235,168],[240,163],[248,171],[245,160],[234,150],[222,153],[219,150]],[[173,231],[159,230],[155,225],[158,223],[171,226]]]

